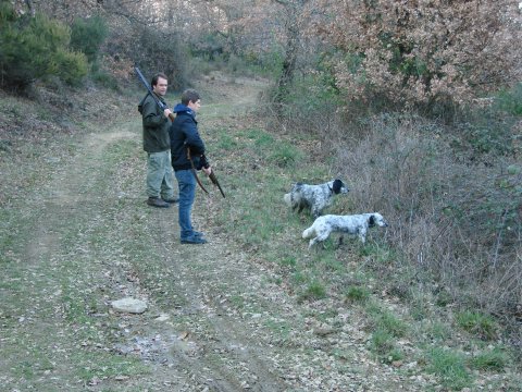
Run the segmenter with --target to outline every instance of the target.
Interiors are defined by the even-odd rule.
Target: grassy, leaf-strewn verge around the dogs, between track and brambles
[[[312,218],[293,213],[282,198],[291,182],[319,182],[338,174],[312,135],[262,128],[233,135],[226,128],[212,130],[211,135],[213,154],[223,157],[219,169],[235,195],[215,224],[259,262],[275,268],[277,284],[300,301],[323,304],[318,306],[324,319],[334,317],[339,307],[358,309],[372,335],[368,345],[380,360],[397,367],[421,364],[450,390],[473,384],[474,371],[517,367],[517,347],[510,340],[514,330],[480,307],[459,303],[430,271],[410,266],[403,249],[394,244],[394,231],[401,224],[395,218],[386,232],[373,231],[364,246],[349,238],[338,246],[334,236],[308,250],[300,233]],[[369,205],[358,205],[362,196],[357,183],[351,176],[347,181],[351,192],[338,197],[328,212],[369,211]],[[363,194],[372,198],[382,191],[366,187]],[[515,390],[514,384],[509,388]]]

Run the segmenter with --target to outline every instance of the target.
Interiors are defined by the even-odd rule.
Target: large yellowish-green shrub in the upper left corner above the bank
[[[67,26],[37,13],[17,17],[12,5],[0,4],[0,83],[24,89],[36,79],[58,76],[69,84],[87,74],[83,53],[69,50]]]

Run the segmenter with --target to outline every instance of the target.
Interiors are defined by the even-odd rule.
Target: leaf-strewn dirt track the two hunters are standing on
[[[262,87],[214,83],[201,86],[219,91],[206,102],[207,127],[236,123]],[[237,107],[223,110],[234,96]],[[5,391],[414,391],[430,383],[372,358],[350,309],[322,328],[310,317],[313,303],[298,302],[208,221],[221,203],[215,195],[199,195],[195,209],[210,243],[181,245],[177,208],[145,204],[139,119],[90,131],[39,157],[23,199],[4,205]],[[146,301],[147,311],[115,313],[110,303],[124,296]]]

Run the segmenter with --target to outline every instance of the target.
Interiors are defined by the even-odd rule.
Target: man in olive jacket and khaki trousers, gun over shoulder
[[[152,77],[152,94],[163,103],[167,79],[162,73]],[[144,150],[147,151],[147,204],[152,207],[170,207],[177,203],[171,167],[170,109],[161,110],[154,98],[147,94],[138,106],[144,123]]]

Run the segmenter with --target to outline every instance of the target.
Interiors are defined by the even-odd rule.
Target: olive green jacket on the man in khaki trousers
[[[157,96],[163,103],[163,98]],[[150,94],[147,94],[138,105],[138,111],[144,121],[144,150],[161,152],[171,148],[169,128],[171,121],[165,118],[163,110],[156,103]]]

